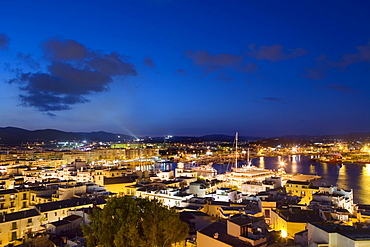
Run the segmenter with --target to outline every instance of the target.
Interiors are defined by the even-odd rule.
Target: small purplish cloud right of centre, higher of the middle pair
[[[254,44],[248,46],[250,51],[247,51],[246,54],[248,57],[255,58],[257,60],[268,60],[270,62],[277,62],[283,60],[295,59],[299,56],[305,55],[307,52],[303,48],[297,49],[286,49],[282,45],[261,45],[259,48],[256,48]]]

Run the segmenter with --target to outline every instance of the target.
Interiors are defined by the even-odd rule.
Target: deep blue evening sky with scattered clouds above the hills
[[[369,1],[1,1],[0,127],[370,132]]]

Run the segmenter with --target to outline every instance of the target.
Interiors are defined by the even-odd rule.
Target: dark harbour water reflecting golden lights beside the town
[[[292,155],[278,157],[261,157],[252,159],[252,164],[257,167],[278,170],[280,162],[285,163],[287,173],[300,173],[319,175],[322,178],[314,181],[314,185],[336,185],[338,189],[353,189],[355,203],[370,204],[370,164],[328,164],[309,161],[308,156]],[[245,161],[239,162],[239,166]],[[190,164],[185,164],[189,168]],[[225,173],[231,165],[214,164],[217,172]],[[161,170],[173,170],[176,163],[165,163],[157,167]]]

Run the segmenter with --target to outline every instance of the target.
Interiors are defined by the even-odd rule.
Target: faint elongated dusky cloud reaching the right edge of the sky
[[[370,43],[364,46],[356,46],[356,53],[343,54],[338,60],[329,60],[325,55],[320,55],[316,59],[314,68],[306,68],[303,75],[306,78],[321,80],[325,77],[327,71],[331,69],[341,69],[342,71],[348,66],[363,62],[370,62]]]

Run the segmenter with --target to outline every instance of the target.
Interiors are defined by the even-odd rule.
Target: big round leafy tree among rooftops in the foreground
[[[88,246],[170,247],[185,240],[188,226],[173,208],[157,200],[130,196],[110,199],[95,208],[83,226]]]

